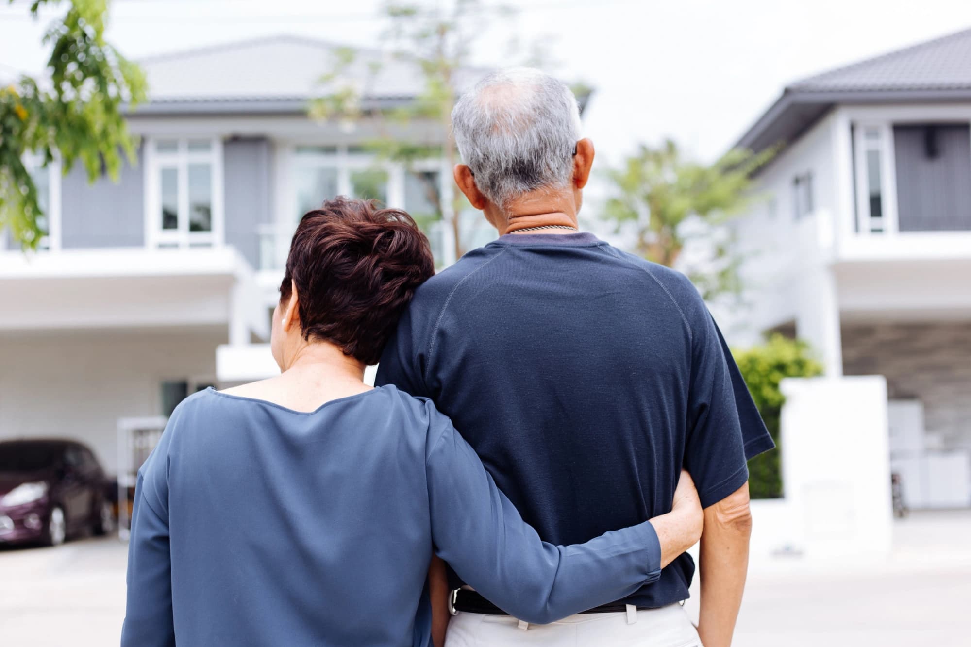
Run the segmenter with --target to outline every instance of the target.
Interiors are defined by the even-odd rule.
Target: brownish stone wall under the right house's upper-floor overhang
[[[971,450],[971,322],[844,324],[843,372],[886,376],[890,399],[923,402],[927,432]]]

